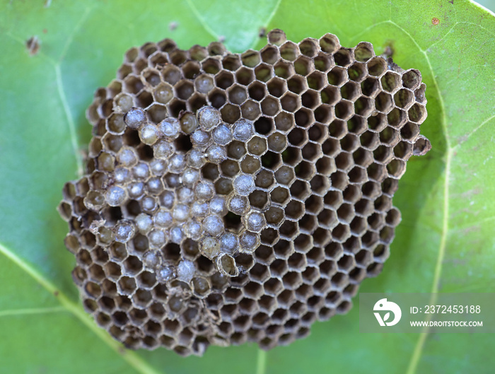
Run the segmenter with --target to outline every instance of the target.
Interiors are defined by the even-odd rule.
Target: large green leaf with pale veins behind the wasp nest
[[[71,4],[69,4],[71,3]],[[432,18],[438,18],[434,25]],[[170,23],[177,28],[170,30]],[[225,37],[262,47],[260,28],[289,39],[372,42],[419,69],[433,150],[412,158],[394,202],[391,257],[361,291],[495,292],[495,18],[465,0],[3,1],[0,4],[0,351],[6,373],[487,373],[489,334],[359,334],[357,306],[310,337],[267,353],[247,344],[203,358],[126,351],[83,312],[55,207],[77,177],[90,134],[84,112],[132,45],[180,47]],[[37,35],[40,51],[25,41]]]

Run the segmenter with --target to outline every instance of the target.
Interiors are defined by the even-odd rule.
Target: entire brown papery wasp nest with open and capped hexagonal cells
[[[147,43],[95,93],[59,211],[84,308],[129,348],[289,344],[389,256],[397,182],[431,148],[421,74],[368,42],[268,40]]]

